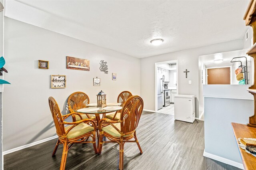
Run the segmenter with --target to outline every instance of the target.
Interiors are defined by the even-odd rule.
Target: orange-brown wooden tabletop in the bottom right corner
[[[231,123],[233,132],[236,138],[236,144],[238,144],[238,138],[256,138],[256,128],[248,127],[240,123]],[[242,148],[239,148],[240,156],[242,157],[242,162],[245,170],[256,170],[256,157],[252,154],[247,153]]]

